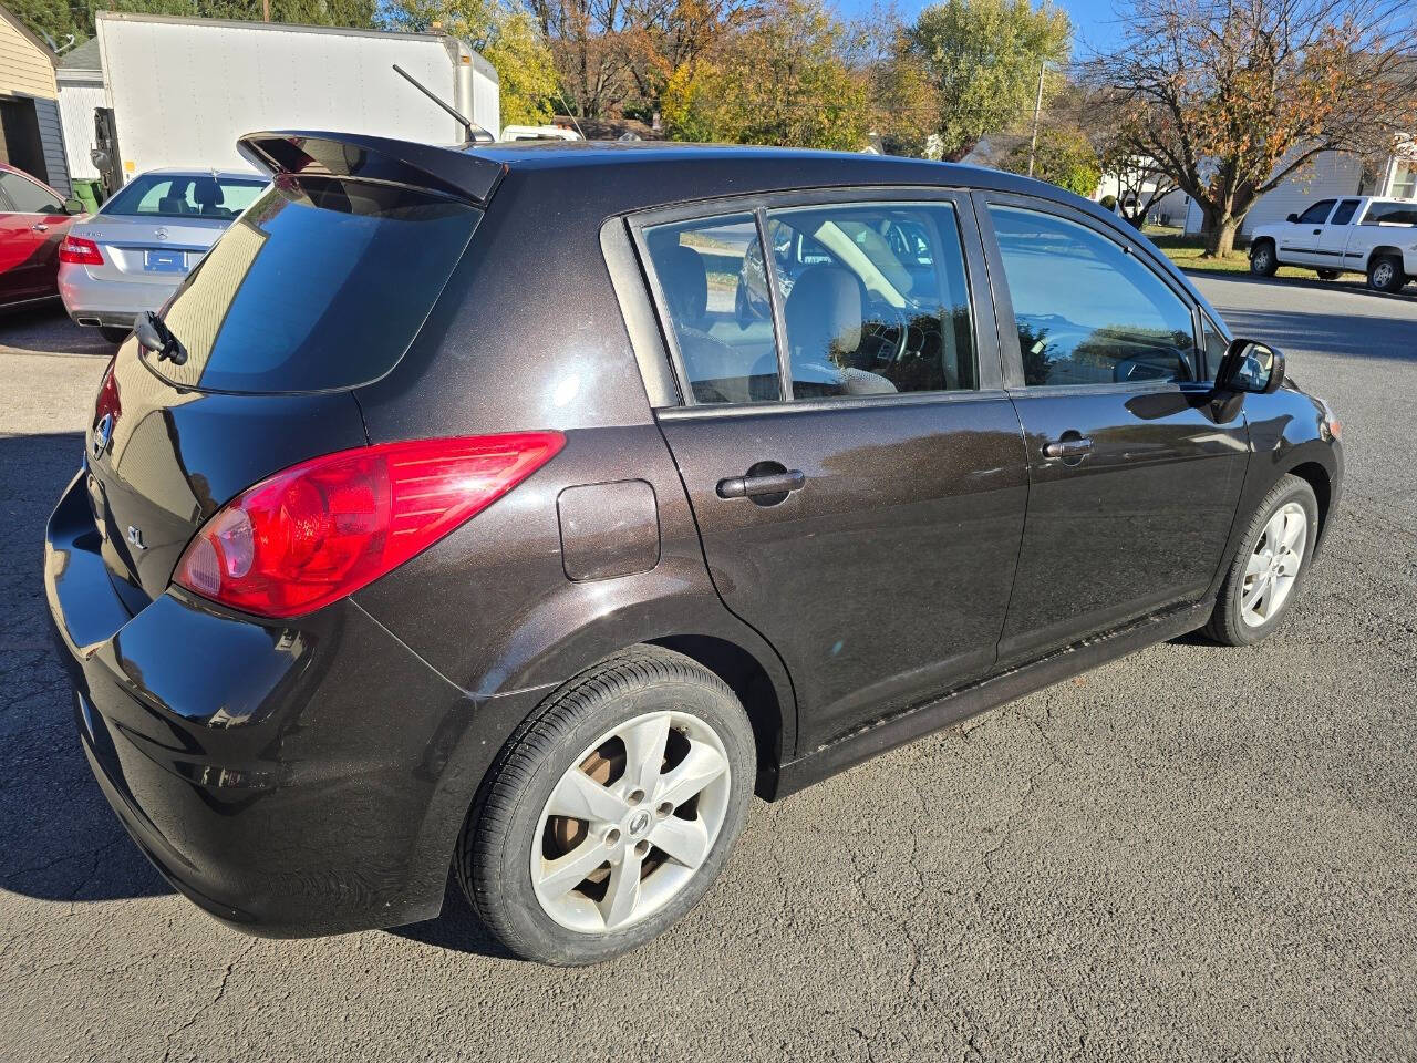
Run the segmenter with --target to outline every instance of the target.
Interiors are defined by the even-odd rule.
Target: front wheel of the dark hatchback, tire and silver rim
[[[1206,634],[1227,646],[1270,638],[1294,608],[1318,527],[1314,488],[1298,476],[1282,476],[1250,519]]]

